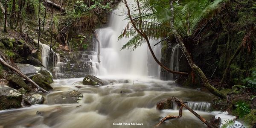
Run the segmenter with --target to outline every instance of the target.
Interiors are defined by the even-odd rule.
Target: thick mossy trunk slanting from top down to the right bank
[[[215,87],[213,87],[207,77],[204,75],[204,72],[194,63],[194,61],[192,60],[192,57],[190,56],[188,50],[186,49],[183,40],[181,38],[181,36],[177,33],[175,27],[174,27],[174,8],[173,8],[173,1],[169,0],[170,2],[170,7],[171,7],[171,12],[172,12],[172,17],[171,17],[171,28],[172,28],[172,32],[174,33],[175,37],[177,38],[177,42],[180,45],[180,48],[182,49],[184,55],[186,56],[190,67],[192,68],[192,70],[194,70],[196,73],[198,73],[198,75],[201,77],[201,80],[204,83],[204,87],[207,88],[207,90],[209,90],[209,92],[211,92],[212,94],[214,94],[215,96],[220,97],[221,99],[226,99],[227,96],[224,95],[223,93],[221,93],[219,90],[217,90]]]

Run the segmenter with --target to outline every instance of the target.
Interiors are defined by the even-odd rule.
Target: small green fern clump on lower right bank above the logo
[[[236,110],[237,114],[239,115],[239,118],[243,118],[248,113],[250,113],[251,109],[249,105],[245,102],[239,101],[236,103]]]

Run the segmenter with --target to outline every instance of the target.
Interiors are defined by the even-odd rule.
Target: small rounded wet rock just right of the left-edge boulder
[[[43,104],[44,103],[44,96],[42,96],[40,94],[33,94],[32,96],[27,96],[24,99],[24,102],[27,105]]]

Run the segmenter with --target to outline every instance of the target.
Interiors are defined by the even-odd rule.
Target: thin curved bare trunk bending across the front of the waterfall
[[[136,23],[134,23],[134,20],[132,19],[131,17],[131,11],[130,11],[130,8],[128,6],[128,3],[126,0],[122,0],[122,3],[125,4],[126,8],[127,8],[127,11],[128,11],[128,17],[131,21],[131,24],[132,26],[134,27],[134,29],[143,37],[145,38],[145,41],[147,42],[147,45],[148,45],[148,49],[150,50],[151,52],[151,55],[153,56],[154,60],[157,62],[157,64],[163,68],[164,70],[170,72],[170,73],[174,73],[174,74],[180,74],[180,75],[188,75],[188,73],[183,73],[183,72],[178,72],[178,71],[173,71],[173,70],[170,70],[169,68],[165,67],[160,61],[158,61],[157,57],[154,55],[154,51],[152,50],[151,46],[150,46],[150,42],[149,42],[149,39],[148,39],[148,36],[145,34],[145,32],[142,31],[141,29],[141,20],[140,20],[140,30],[137,28],[136,26]],[[139,7],[139,10],[140,10],[140,7]]]

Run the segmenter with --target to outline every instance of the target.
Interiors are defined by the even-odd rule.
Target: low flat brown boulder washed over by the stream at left
[[[83,98],[83,94],[73,90],[70,92],[61,92],[61,93],[54,93],[52,95],[48,95],[47,102],[50,105],[53,104],[74,104],[79,103],[80,100]]]

